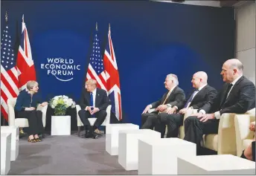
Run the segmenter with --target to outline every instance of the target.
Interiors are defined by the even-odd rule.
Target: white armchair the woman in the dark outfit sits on
[[[19,126],[19,128],[25,128],[28,127],[28,119],[26,118],[15,118],[15,112],[14,112],[14,106],[16,104],[17,98],[9,98],[7,100],[7,106],[8,106],[8,123],[9,126]],[[37,106],[36,110],[42,111],[42,126],[45,127],[45,120],[46,120],[46,111],[47,111],[48,105]]]

